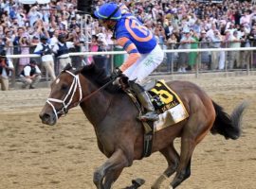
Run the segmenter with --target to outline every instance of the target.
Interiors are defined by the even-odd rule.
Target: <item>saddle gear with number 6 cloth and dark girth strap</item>
[[[152,103],[155,107],[155,112],[159,116],[159,120],[152,122],[141,122],[144,127],[144,150],[143,156],[148,157],[152,153],[152,146],[155,132],[170,127],[187,117],[189,117],[182,101],[176,93],[165,83],[163,79],[161,80],[151,80],[142,86],[144,90],[150,94]],[[139,111],[139,116],[144,112],[144,108],[141,106],[137,99],[136,94],[131,90],[125,90]]]

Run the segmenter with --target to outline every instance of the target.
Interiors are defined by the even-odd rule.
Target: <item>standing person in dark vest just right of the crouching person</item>
[[[52,57],[52,51],[50,44],[47,43],[47,37],[46,36],[41,36],[41,43],[38,43],[34,53],[41,55],[42,59],[42,65],[46,69],[46,73],[51,77],[51,80],[53,81],[55,77],[55,72],[54,72],[54,60]]]

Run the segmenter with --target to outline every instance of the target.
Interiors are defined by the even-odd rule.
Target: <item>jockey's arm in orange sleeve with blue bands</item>
[[[128,59],[119,67],[124,72],[140,58],[140,54],[137,51],[135,43],[126,37],[119,38],[117,43],[129,54]]]

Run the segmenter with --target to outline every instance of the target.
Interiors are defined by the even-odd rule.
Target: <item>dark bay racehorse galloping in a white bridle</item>
[[[51,84],[51,93],[40,113],[42,122],[56,124],[70,108],[80,104],[93,125],[101,152],[108,158],[94,173],[98,189],[109,189],[118,180],[124,167],[143,158],[142,124],[137,121],[137,107],[122,91],[101,89],[101,70],[87,66],[82,70],[64,70]],[[155,180],[152,188],[159,188],[163,180],[175,173],[170,188],[175,188],[191,175],[192,152],[210,131],[226,139],[238,139],[241,119],[247,103],[237,106],[229,115],[210,99],[210,96],[188,81],[172,81],[168,85],[180,96],[190,116],[174,126],[155,133],[153,152],[165,157],[168,167]],[[180,154],[174,139],[181,138]]]

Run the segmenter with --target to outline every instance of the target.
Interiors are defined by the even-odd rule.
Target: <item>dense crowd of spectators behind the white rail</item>
[[[98,9],[107,0],[95,1]],[[256,45],[256,7],[250,1],[223,0],[119,0],[162,43],[164,49],[248,47]],[[7,54],[29,54],[40,38],[46,36],[53,47],[58,35],[64,34],[67,42],[74,43],[73,52],[113,50],[112,32],[104,29],[97,20],[78,14],[77,0],[51,0],[46,5],[23,5],[18,0],[2,0],[0,5],[0,48]],[[91,42],[91,43],[89,43]],[[119,46],[115,46],[119,49]],[[102,56],[103,57],[103,56]],[[99,57],[98,57],[99,58]],[[109,57],[104,65],[108,66]],[[73,58],[77,66],[97,61],[88,57]],[[99,59],[98,59],[99,60]],[[101,59],[100,59],[101,60]],[[169,53],[166,62],[178,72],[195,69],[244,68],[249,62],[255,65],[248,51]],[[175,61],[176,60],[176,61]],[[16,72],[29,63],[29,58],[12,60]],[[102,60],[101,60],[102,61]],[[57,63],[56,63],[57,64]],[[119,64],[119,62],[117,63]],[[56,66],[56,65],[55,65]],[[58,70],[58,69],[55,69]],[[17,73],[19,74],[19,73]],[[58,73],[56,73],[57,75]]]

